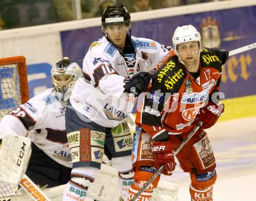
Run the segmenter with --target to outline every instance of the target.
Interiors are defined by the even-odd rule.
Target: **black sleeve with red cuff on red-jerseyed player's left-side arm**
[[[143,127],[152,138],[166,131],[162,124],[162,112],[168,97],[165,97],[164,82],[159,83],[157,79],[158,72],[152,77],[148,92],[139,103],[136,115],[136,124]]]

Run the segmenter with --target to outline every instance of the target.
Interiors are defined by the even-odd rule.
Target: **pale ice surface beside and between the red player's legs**
[[[217,163],[214,201],[256,200],[256,116],[216,123],[207,130]],[[177,167],[162,180],[179,185],[179,200],[189,201],[189,174]]]

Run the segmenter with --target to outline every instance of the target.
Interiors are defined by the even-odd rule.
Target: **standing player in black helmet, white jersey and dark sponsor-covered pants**
[[[134,180],[132,139],[123,120],[138,94],[147,88],[151,79],[148,72],[169,51],[151,39],[131,36],[130,14],[125,6],[108,6],[101,21],[104,36],[91,44],[83,61],[87,81],[76,82],[66,109],[73,170],[63,200],[76,200],[76,189],[83,191],[79,199],[85,199],[104,153],[118,170],[121,195],[126,200]]]

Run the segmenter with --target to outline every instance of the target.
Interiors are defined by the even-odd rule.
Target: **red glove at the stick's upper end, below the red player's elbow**
[[[197,115],[197,118],[194,121],[194,125],[197,125],[200,121],[202,121],[202,129],[209,129],[215,125],[219,117],[224,112],[224,105],[216,105],[212,101],[200,109],[200,114]]]

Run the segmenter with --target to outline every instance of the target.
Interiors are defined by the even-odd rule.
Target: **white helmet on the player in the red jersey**
[[[180,43],[184,42],[190,42],[190,41],[198,41],[199,46],[200,46],[200,51],[202,51],[202,42],[201,42],[201,35],[200,32],[197,31],[193,25],[184,25],[182,27],[177,27],[173,37],[172,37],[172,43],[173,43],[173,48],[179,56],[179,53],[177,52],[177,45]]]

